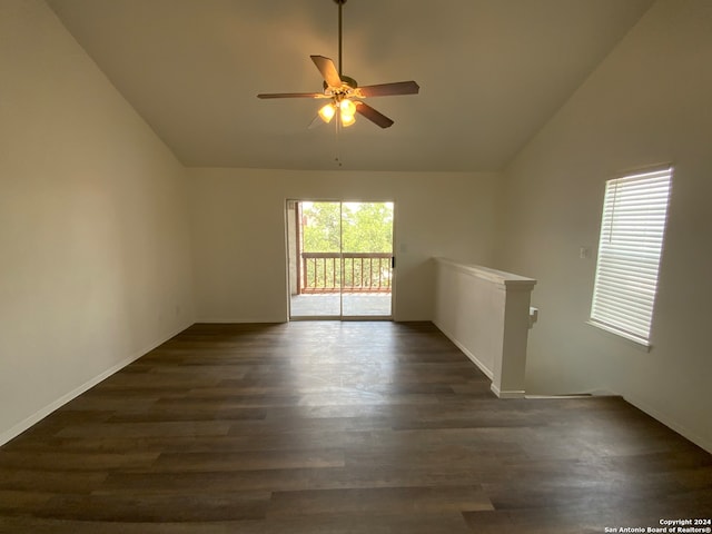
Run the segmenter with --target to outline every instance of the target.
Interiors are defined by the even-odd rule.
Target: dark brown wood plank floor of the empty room
[[[196,325],[0,448],[0,532],[603,533],[712,516],[621,398],[501,400],[431,324]]]

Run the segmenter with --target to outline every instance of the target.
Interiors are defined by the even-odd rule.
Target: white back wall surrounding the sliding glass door
[[[490,264],[493,174],[190,169],[202,322],[287,319],[287,199],[395,201],[396,320],[433,317],[435,256]]]

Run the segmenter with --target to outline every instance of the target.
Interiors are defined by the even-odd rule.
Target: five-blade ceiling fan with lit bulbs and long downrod
[[[324,122],[330,122],[337,117],[337,125],[350,126],[356,121],[355,113],[367,118],[380,128],[393,126],[393,120],[376,111],[363,102],[368,97],[390,97],[396,95],[417,95],[421,89],[415,81],[396,81],[377,86],[358,87],[354,78],[342,72],[342,9],[346,0],[334,0],[338,4],[338,70],[334,61],[324,56],[312,56],[312,61],[319,69],[324,78],[323,92],[269,92],[257,95],[257,98],[317,98],[328,99],[329,102],[322,107],[318,118]],[[318,119],[315,119],[318,121]]]

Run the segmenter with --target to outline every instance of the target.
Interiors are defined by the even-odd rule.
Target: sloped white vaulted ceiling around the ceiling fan
[[[48,0],[118,90],[188,166],[494,170],[565,102],[652,0],[348,0],[345,75],[415,80],[370,98],[337,138],[307,129],[309,59],[335,61],[333,0]]]

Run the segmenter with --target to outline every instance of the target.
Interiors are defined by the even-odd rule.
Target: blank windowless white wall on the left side
[[[42,1],[0,2],[0,443],[192,323],[185,179]]]

